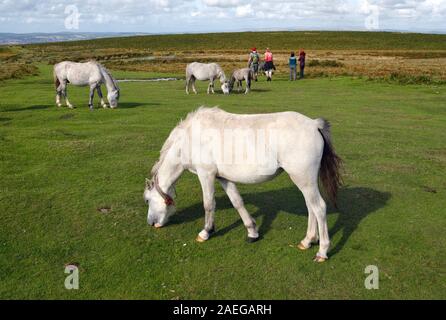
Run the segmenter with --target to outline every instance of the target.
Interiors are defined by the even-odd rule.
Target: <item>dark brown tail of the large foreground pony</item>
[[[325,192],[337,208],[336,196],[342,185],[341,167],[342,159],[336,154],[331,142],[330,123],[324,119],[318,119],[319,132],[324,139],[324,153],[319,170],[319,179],[324,186]]]

